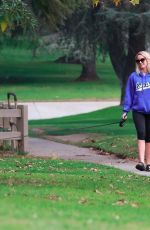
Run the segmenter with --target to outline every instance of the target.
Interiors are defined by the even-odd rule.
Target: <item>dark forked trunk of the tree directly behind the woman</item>
[[[135,18],[134,23],[133,21],[129,22],[126,41],[122,34],[122,27],[117,25],[115,20],[111,21],[109,26],[111,27],[111,36],[108,38],[108,48],[112,65],[120,80],[120,104],[122,104],[128,77],[135,70],[135,55],[137,52],[145,50],[144,20],[141,17]]]

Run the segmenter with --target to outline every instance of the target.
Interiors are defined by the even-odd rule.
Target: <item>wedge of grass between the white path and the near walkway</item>
[[[42,129],[44,135],[53,136],[91,133],[91,138],[87,142],[78,144],[96,147],[99,150],[114,153],[122,158],[136,158],[136,132],[131,113],[129,113],[128,120],[122,128],[119,127],[119,124],[105,125],[119,122],[121,113],[121,107],[114,106],[87,114],[29,121],[30,134],[35,135],[35,133],[32,133],[32,129],[35,127]],[[90,126],[92,127],[88,128]],[[92,134],[97,134],[97,136],[93,137]]]

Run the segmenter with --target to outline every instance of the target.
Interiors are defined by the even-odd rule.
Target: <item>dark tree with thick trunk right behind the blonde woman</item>
[[[119,12],[113,9],[107,21],[107,44],[114,70],[121,84],[123,101],[128,77],[135,69],[135,55],[146,49],[146,35],[150,25],[150,2],[141,1],[135,8]]]

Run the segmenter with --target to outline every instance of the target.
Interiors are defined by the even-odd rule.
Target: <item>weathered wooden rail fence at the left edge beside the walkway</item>
[[[28,107],[0,108],[0,143],[10,142],[19,151],[27,151]]]

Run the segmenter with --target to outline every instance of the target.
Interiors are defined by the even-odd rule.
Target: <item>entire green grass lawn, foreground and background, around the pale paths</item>
[[[56,58],[56,57],[55,57]],[[0,100],[8,91],[19,101],[118,99],[119,83],[110,62],[98,63],[98,82],[76,82],[81,66],[32,58],[31,52],[3,49],[0,54]],[[90,133],[84,146],[122,157],[136,157],[131,114],[123,128],[121,108],[43,121],[30,121],[46,135]],[[98,126],[97,126],[98,125]],[[88,128],[89,126],[97,126]],[[93,139],[93,135],[96,138]],[[63,160],[0,158],[0,229],[2,230],[140,230],[149,229],[150,177],[102,165]]]

